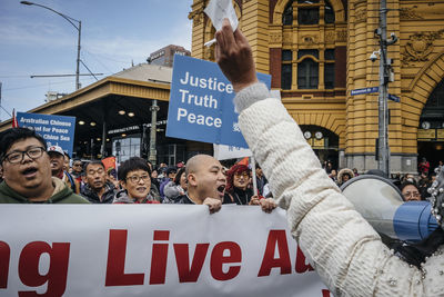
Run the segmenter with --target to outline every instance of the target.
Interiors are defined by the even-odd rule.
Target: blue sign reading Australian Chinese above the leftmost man
[[[20,127],[31,128],[43,137],[49,146],[59,146],[72,156],[75,117],[17,112]]]

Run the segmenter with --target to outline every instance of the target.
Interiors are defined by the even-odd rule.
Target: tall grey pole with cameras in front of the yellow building
[[[392,60],[387,58],[387,46],[397,41],[394,33],[387,40],[387,3],[381,0],[380,6],[380,28],[375,30],[380,39],[380,97],[377,100],[379,109],[379,146],[377,146],[377,169],[382,170],[386,177],[390,175],[390,147],[389,147],[389,82],[392,80]]]

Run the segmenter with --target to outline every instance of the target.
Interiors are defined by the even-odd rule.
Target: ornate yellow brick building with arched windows
[[[204,42],[214,37],[194,0],[192,56],[214,60]],[[392,172],[416,171],[417,158],[444,159],[444,0],[387,1],[389,47],[394,82],[389,102]],[[321,160],[366,171],[377,167],[377,93],[351,90],[379,86],[379,0],[233,0],[258,71],[272,75],[290,115]]]

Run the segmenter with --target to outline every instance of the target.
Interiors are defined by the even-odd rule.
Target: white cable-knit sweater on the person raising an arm
[[[234,99],[239,123],[305,256],[335,296],[444,296],[441,249],[410,266],[326,176],[299,126],[262,83]],[[369,189],[371,190],[371,189]]]

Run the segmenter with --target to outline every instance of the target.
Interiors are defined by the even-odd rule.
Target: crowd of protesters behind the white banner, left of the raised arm
[[[211,212],[222,204],[261,206],[266,212],[276,207],[270,191],[263,197],[268,181],[259,166],[254,192],[250,167],[225,168],[206,155],[196,155],[186,165],[162,162],[158,168],[132,157],[118,168],[107,168],[101,160],[71,161],[61,147],[47,147],[27,128],[3,131],[0,143],[4,179],[0,202],[60,202],[54,194],[63,190],[69,201],[84,204],[203,204]]]

